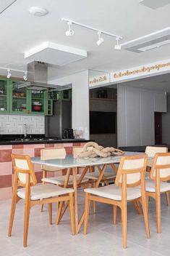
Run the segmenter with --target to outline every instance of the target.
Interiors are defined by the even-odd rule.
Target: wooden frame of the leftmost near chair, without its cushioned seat
[[[15,159],[26,160],[28,169],[20,169],[15,164]],[[12,154],[12,163],[14,166],[14,182],[12,186],[12,207],[10,212],[10,219],[9,219],[9,232],[8,236],[12,235],[12,226],[14,222],[14,212],[16,209],[16,204],[20,201],[20,197],[17,196],[17,188],[18,186],[25,187],[25,214],[24,214],[24,235],[23,235],[23,246],[27,247],[27,232],[28,232],[28,224],[29,224],[29,217],[30,217],[30,208],[39,204],[48,204],[48,211],[49,211],[49,223],[52,224],[52,203],[56,202],[63,202],[69,201],[69,214],[70,214],[70,222],[71,222],[71,230],[72,235],[75,235],[75,220],[74,220],[74,193],[68,193],[59,197],[51,197],[48,199],[42,200],[31,200],[30,199],[30,187],[37,183],[35,172],[33,169],[33,164],[30,161],[30,156],[19,156]],[[26,175],[26,182],[22,183],[19,178],[18,174],[23,173]],[[30,178],[33,182],[30,182]]]

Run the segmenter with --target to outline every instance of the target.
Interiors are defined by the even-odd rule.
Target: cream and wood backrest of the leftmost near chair
[[[14,172],[17,173],[19,185],[25,186],[27,175],[30,176],[30,185],[35,185],[37,179],[33,169],[33,164],[30,161],[30,156],[20,156],[12,154],[12,164],[14,167]]]

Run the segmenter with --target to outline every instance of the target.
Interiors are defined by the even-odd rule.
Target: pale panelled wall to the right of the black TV
[[[154,145],[154,112],[166,112],[166,92],[117,87],[118,146]]]

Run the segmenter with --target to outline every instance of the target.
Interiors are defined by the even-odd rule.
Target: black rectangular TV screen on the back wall
[[[90,134],[116,133],[116,112],[90,111]]]

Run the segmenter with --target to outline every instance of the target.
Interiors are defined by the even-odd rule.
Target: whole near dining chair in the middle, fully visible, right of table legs
[[[129,201],[140,200],[143,205],[147,238],[150,238],[148,207],[145,197],[146,161],[146,154],[139,156],[122,156],[115,184],[106,185],[100,188],[85,189],[84,234],[87,233],[90,202],[98,201],[101,203],[112,204],[114,206],[115,213],[117,207],[121,209],[123,247],[127,248],[127,203]]]

